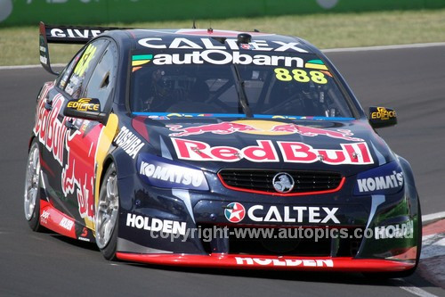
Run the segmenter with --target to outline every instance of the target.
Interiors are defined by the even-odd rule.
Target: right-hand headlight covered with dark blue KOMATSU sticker
[[[401,191],[404,178],[396,161],[357,175],[354,195],[394,194]]]

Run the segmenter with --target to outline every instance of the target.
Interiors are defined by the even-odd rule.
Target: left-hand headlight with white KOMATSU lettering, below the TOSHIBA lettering
[[[202,170],[149,153],[139,154],[137,170],[142,180],[151,186],[208,190]]]

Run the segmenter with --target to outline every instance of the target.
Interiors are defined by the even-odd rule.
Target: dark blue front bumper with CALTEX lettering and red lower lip
[[[121,205],[117,244],[117,258],[120,260],[207,268],[357,272],[403,271],[415,266],[417,212],[411,210],[411,203],[403,191],[385,195],[384,202],[374,208],[374,197],[354,197],[347,189],[337,194],[295,198],[235,193],[223,188],[217,192],[173,191],[144,184],[135,187],[141,190],[132,191],[133,188],[128,185],[120,187],[121,190],[129,189],[128,193],[121,196],[132,197]],[[243,204],[246,208],[244,219],[238,223],[231,222],[225,213],[233,202]],[[302,207],[304,211],[300,215],[297,210]],[[332,214],[329,217],[331,219],[328,219],[329,214]],[[161,221],[159,226],[168,226],[166,229],[170,235],[178,235],[179,227],[182,226],[187,231],[214,227],[347,228],[363,231],[368,227],[375,232],[379,231],[379,237],[355,238],[348,235],[340,240],[303,240],[298,249],[290,252],[276,251],[275,247],[271,248],[266,243],[269,251],[264,251],[261,241],[249,241],[249,238],[239,240],[233,236],[210,242],[199,236],[185,238],[181,235],[175,237],[175,240],[168,236],[154,238],[152,231],[155,220]],[[414,236],[395,238],[390,236],[394,232],[389,235],[384,233],[407,225],[406,222],[410,223]],[[178,226],[176,234],[171,227],[175,225]],[[391,228],[383,228],[387,226]],[[290,241],[292,239],[287,243]]]

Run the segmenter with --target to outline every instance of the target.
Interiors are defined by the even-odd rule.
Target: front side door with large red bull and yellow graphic
[[[85,87],[78,92],[78,98],[72,99],[78,99],[78,102],[97,99],[100,111],[109,113],[117,81],[117,57],[117,45],[109,40],[97,63],[92,69],[87,69],[91,74],[84,83]],[[68,154],[61,172],[61,187],[67,197],[72,195],[70,204],[77,205],[77,216],[90,228],[93,228],[102,162],[117,129],[116,116],[112,117],[109,125],[106,124],[108,122],[69,119]]]

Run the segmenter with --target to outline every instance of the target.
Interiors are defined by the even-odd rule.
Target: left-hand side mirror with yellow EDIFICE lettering
[[[107,114],[101,112],[101,102],[95,98],[69,100],[63,110],[63,115],[84,120],[96,120],[102,124],[107,119]]]

